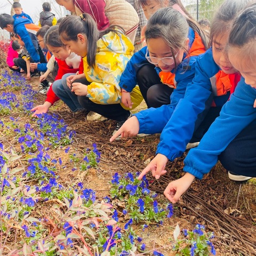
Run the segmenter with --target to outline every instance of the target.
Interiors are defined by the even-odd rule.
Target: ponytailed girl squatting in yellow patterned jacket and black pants
[[[84,74],[63,76],[62,83],[53,84],[55,94],[68,106],[125,122],[131,113],[120,104],[119,79],[133,54],[131,40],[116,27],[100,32],[86,13],[66,17],[59,33],[63,44],[83,58]],[[142,101],[138,87],[131,97],[135,108]]]

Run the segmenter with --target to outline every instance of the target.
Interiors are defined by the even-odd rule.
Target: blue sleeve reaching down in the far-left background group
[[[25,43],[25,47],[28,50],[31,58],[35,61],[35,62],[40,62],[40,57],[38,54],[38,51],[36,50],[32,39],[30,38],[28,31],[26,29],[26,27],[24,25],[20,25],[17,26],[15,33],[17,33],[21,40]]]

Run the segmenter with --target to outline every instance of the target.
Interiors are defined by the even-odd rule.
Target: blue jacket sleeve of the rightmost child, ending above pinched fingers
[[[256,119],[256,109],[253,108],[255,98],[256,90],[245,84],[244,78],[241,78],[235,92],[222,107],[220,116],[205,133],[199,146],[189,151],[184,161],[185,172],[202,179],[212,169],[221,152]]]

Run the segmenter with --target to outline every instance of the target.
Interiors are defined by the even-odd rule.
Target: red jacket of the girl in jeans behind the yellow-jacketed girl
[[[57,76],[55,77],[55,81],[61,79],[63,75],[68,74],[68,73],[74,73],[75,74],[78,71],[79,74],[82,74],[84,72],[84,65],[83,65],[82,58],[81,58],[79,68],[70,68],[67,65],[65,60],[59,60],[57,58],[55,58],[55,60],[57,61],[58,66],[59,66]],[[57,95],[55,95],[55,93],[52,90],[52,85],[51,85],[48,92],[47,92],[45,101],[48,101],[53,105],[53,103],[58,101],[58,100],[59,100],[59,97],[57,97]]]

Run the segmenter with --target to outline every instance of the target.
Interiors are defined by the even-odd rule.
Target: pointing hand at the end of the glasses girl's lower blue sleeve
[[[132,116],[128,120],[125,121],[125,123],[121,126],[121,128],[110,138],[110,142],[114,141],[119,135],[121,135],[122,138],[124,137],[133,137],[136,136],[139,133],[140,130],[140,124],[138,121],[138,118],[135,116]]]

